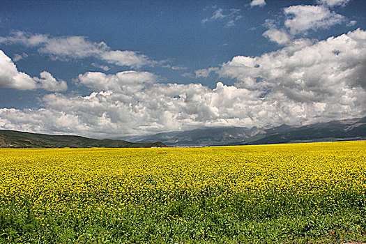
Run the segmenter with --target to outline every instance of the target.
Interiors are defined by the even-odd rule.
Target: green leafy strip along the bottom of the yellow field
[[[123,211],[90,209],[81,214],[68,213],[65,218],[47,211],[42,215],[34,213],[24,203],[1,208],[0,240],[1,243],[362,242],[366,240],[366,208],[359,204],[361,200],[353,206],[346,206],[343,201],[333,208],[319,208],[303,201],[294,211],[291,204],[284,202],[248,204],[243,196],[218,201],[215,196],[206,195],[195,201],[181,197],[164,204],[132,204]]]

